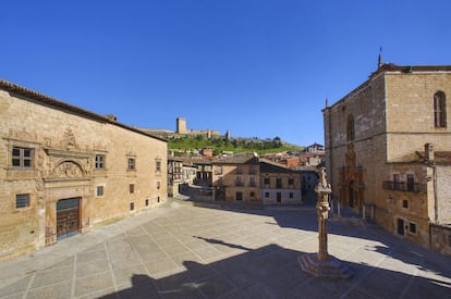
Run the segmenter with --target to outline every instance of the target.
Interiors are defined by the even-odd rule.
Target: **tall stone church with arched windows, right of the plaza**
[[[332,201],[451,254],[451,66],[378,70],[322,110]]]

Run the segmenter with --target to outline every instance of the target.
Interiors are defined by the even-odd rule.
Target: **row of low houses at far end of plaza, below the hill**
[[[302,195],[313,192],[317,179],[316,167],[290,170],[256,153],[241,153],[211,161],[168,158],[169,197],[178,197],[197,185],[206,190],[211,201],[302,203]]]

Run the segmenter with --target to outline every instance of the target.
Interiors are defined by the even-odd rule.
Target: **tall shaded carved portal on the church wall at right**
[[[356,165],[354,145],[349,144],[345,154],[345,165],[340,172],[340,199],[344,205],[362,211],[364,203],[365,183],[363,167]]]

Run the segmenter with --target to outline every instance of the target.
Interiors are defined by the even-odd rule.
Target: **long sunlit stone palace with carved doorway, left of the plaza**
[[[167,141],[0,80],[0,260],[167,199]]]

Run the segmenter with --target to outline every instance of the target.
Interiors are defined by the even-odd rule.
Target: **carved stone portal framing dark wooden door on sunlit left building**
[[[66,128],[60,142],[47,142],[38,152],[40,171],[37,189],[42,189],[45,209],[45,244],[89,229],[95,152],[82,149],[72,128]],[[39,185],[39,184],[40,185]],[[72,203],[69,204],[69,203]]]

